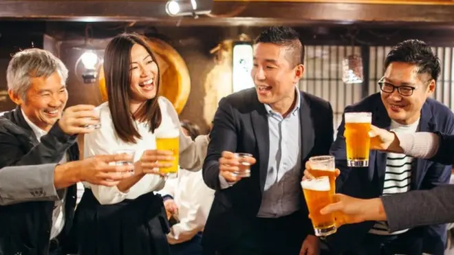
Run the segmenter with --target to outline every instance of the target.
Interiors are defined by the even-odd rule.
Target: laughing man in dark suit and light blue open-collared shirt
[[[297,88],[303,60],[299,35],[270,27],[255,40],[255,88],[219,102],[203,168],[205,183],[216,190],[205,254],[318,254],[300,181],[307,159],[329,152],[333,113],[328,102]],[[250,177],[235,174],[233,153],[257,159]]]

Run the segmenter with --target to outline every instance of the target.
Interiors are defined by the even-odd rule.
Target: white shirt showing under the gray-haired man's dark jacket
[[[22,111],[22,110],[21,110]],[[25,113],[22,111],[23,118],[27,122],[27,124],[32,128],[32,131],[34,135],[36,135],[36,139],[38,141],[41,141],[41,137],[47,134],[46,131],[43,131],[43,129],[40,129],[39,126],[36,126],[31,120],[27,118]],[[63,156],[63,159],[61,159],[59,164],[63,164],[67,161],[66,154]],[[65,197],[66,197],[66,191],[65,195],[63,195],[63,199],[55,201],[54,204],[54,211],[52,212],[52,228],[50,230],[50,239],[56,238],[58,234],[63,230],[63,227],[65,226]]]

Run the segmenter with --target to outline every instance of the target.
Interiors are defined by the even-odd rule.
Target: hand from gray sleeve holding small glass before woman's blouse
[[[116,186],[122,179],[131,177],[134,166],[114,165],[110,162],[131,161],[131,155],[97,155],[76,163],[80,181],[102,186]]]

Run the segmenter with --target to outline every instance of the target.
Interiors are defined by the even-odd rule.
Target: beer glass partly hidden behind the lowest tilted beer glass
[[[309,158],[310,169],[307,169],[313,177],[327,176],[331,193],[336,192],[336,163],[331,155],[316,156]]]

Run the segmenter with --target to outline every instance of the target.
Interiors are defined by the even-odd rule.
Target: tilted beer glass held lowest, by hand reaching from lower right
[[[309,209],[312,226],[316,236],[328,236],[337,231],[334,214],[322,215],[320,210],[333,203],[333,195],[329,186],[329,177],[323,176],[315,179],[301,181],[304,198]]]

